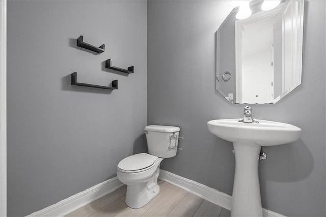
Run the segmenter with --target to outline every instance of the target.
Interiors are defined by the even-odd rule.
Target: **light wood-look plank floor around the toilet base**
[[[131,209],[125,204],[126,186],[66,216],[214,216],[227,217],[230,211],[164,181],[160,192],[148,204]]]

